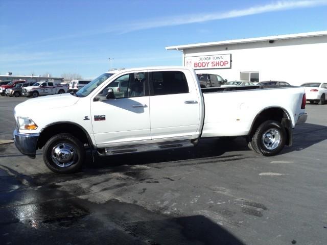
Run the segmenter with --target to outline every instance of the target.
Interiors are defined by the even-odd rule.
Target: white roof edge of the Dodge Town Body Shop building
[[[208,47],[208,46],[218,46],[218,45],[226,45],[226,44],[240,44],[240,43],[261,42],[261,41],[269,41],[269,40],[283,40],[283,39],[318,37],[318,36],[327,36],[327,31],[306,32],[306,33],[298,33],[298,34],[255,37],[255,38],[235,39],[235,40],[227,40],[227,41],[219,41],[219,42],[204,42],[204,43],[196,43],[196,44],[168,46],[166,47],[166,50],[185,50],[187,48],[195,48],[195,47]]]

